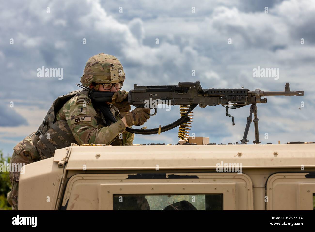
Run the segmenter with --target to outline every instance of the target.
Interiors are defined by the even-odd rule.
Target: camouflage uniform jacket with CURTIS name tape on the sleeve
[[[56,114],[56,121],[66,120],[79,145],[96,143],[132,145],[134,134],[125,131],[118,109],[110,105],[117,122],[106,126],[103,114],[93,106],[85,92],[71,98]]]

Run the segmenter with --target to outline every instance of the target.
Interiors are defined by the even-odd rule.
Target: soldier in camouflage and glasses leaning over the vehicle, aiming
[[[54,156],[54,151],[71,143],[132,145],[134,134],[125,131],[127,126],[143,125],[149,119],[150,109],[131,110],[128,92],[120,90],[125,73],[119,60],[100,53],[89,58],[81,83],[95,91],[115,92],[108,106],[117,122],[111,123],[97,105],[91,102],[88,90],[76,90],[58,97],[50,107],[37,132],[27,136],[14,148],[11,164],[30,164]],[[20,170],[11,170],[12,183],[8,201],[18,210]]]

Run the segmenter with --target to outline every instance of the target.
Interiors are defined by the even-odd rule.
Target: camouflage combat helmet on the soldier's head
[[[85,64],[81,83],[89,87],[92,82],[96,84],[115,84],[125,80],[125,73],[120,61],[104,53],[97,54],[89,58]],[[96,85],[98,89],[99,85]]]

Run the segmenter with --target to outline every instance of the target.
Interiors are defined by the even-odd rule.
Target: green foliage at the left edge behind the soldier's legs
[[[0,151],[0,164],[10,163],[10,158],[3,158],[3,152]],[[0,210],[11,210],[11,205],[7,201],[7,193],[11,191],[11,181],[9,172],[0,171]]]

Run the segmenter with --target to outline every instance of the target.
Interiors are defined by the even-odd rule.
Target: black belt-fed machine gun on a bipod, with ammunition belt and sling
[[[108,107],[104,107],[105,102],[111,102],[113,92],[90,92],[90,98],[98,106],[102,105],[101,111],[110,121],[116,122],[116,119],[110,113]],[[285,84],[284,92],[267,92],[256,89],[249,91],[248,89],[203,89],[199,81],[180,81],[178,86],[138,86],[130,90],[128,93],[128,102],[135,107],[153,108],[154,114],[157,113],[156,104],[180,105],[180,118],[163,127],[153,129],[134,129],[126,128],[127,131],[135,134],[157,134],[179,126],[178,137],[188,141],[187,130],[190,130],[192,110],[199,105],[206,107],[207,105],[223,105],[226,108],[226,116],[232,117],[228,113],[228,109],[236,109],[244,105],[250,106],[249,117],[245,127],[243,139],[240,144],[247,144],[247,135],[251,122],[254,122],[255,141],[253,143],[260,144],[258,132],[257,103],[267,103],[265,96],[303,96],[304,91],[290,91],[289,83]],[[152,104],[153,102],[153,104]],[[150,107],[150,106],[154,107]],[[254,114],[254,120],[252,115]],[[232,117],[232,124],[234,118]]]

